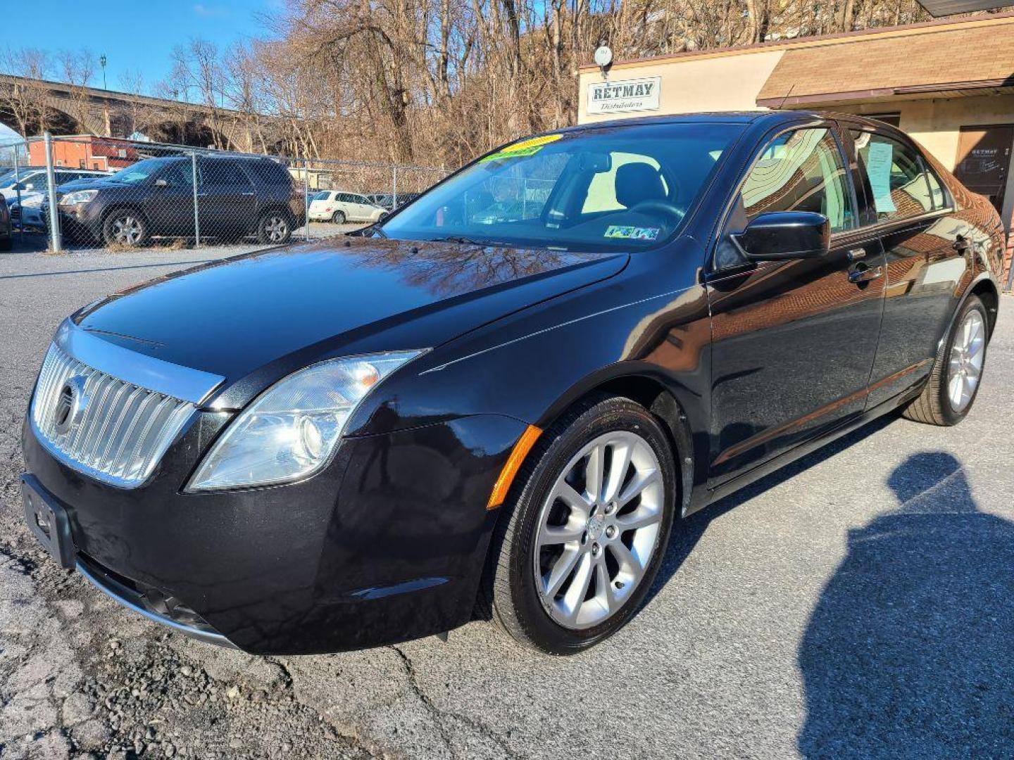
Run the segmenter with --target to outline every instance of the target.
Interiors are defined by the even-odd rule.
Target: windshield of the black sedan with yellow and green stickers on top
[[[652,247],[679,229],[741,129],[618,125],[522,140],[434,187],[380,232],[567,250]]]

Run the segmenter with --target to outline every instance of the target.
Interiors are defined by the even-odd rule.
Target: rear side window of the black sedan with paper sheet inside
[[[878,222],[918,217],[946,206],[940,180],[926,170],[914,148],[873,132],[854,130],[852,138]]]

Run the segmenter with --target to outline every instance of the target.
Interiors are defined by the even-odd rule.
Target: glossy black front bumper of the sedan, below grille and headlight
[[[522,423],[476,415],[347,439],[300,483],[182,492],[224,423],[200,412],[133,489],[72,469],[24,426],[28,470],[104,593],[258,654],[361,649],[470,619],[497,515],[486,502]]]

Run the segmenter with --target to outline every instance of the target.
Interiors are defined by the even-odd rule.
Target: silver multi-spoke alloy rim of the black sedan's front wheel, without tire
[[[658,546],[664,505],[661,465],[644,438],[615,431],[586,444],[537,523],[535,586],[550,617],[583,629],[615,614]]]

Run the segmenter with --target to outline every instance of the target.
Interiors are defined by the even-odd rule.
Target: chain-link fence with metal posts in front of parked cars
[[[379,221],[446,173],[91,136],[46,135],[7,152],[13,181],[0,178],[0,193],[12,224],[54,251],[324,237]]]

